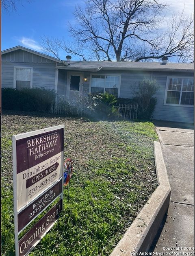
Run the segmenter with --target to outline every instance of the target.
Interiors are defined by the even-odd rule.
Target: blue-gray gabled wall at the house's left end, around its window
[[[2,55],[2,88],[13,88],[13,67],[32,67],[32,87],[55,89],[56,63],[23,50]]]

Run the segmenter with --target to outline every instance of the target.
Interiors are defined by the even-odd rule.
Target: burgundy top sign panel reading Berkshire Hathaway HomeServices
[[[64,150],[64,129],[16,141],[17,173],[31,168]]]

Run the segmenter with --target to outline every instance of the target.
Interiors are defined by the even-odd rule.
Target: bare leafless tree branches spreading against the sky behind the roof
[[[186,18],[182,11],[165,26],[163,13],[167,8],[158,0],[85,0],[85,8],[75,8],[77,25],[69,24],[74,46],[63,38],[47,36],[41,39],[41,46],[47,53],[56,53],[57,45],[84,60],[152,61],[175,57],[178,62],[192,61],[193,18]],[[55,46],[50,49],[51,45]]]

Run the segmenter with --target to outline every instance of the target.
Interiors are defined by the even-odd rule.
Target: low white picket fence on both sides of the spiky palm
[[[114,107],[118,110],[119,116],[124,119],[137,119],[137,104],[119,104],[115,103]],[[53,102],[51,113],[61,116],[93,116],[94,111],[82,105],[67,105],[59,102]]]

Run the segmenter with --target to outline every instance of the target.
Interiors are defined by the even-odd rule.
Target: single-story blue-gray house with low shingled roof
[[[164,62],[164,63],[163,63]],[[61,61],[16,46],[2,51],[2,88],[44,87],[74,100],[82,92],[110,92],[133,98],[143,78],[160,87],[153,118],[193,123],[193,63]]]

